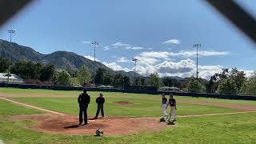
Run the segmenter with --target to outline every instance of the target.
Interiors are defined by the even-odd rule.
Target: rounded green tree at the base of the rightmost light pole
[[[200,82],[199,80],[197,81],[196,78],[191,77],[190,81],[186,85],[186,89],[190,93],[203,93],[206,92],[206,86],[204,83]]]

